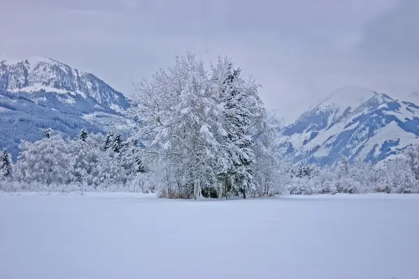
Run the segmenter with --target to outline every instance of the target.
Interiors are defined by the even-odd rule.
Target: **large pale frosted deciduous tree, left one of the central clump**
[[[216,181],[215,98],[203,61],[191,53],[139,84],[131,97],[129,114],[140,123],[133,136],[145,139],[145,160],[166,165],[168,185],[176,180],[194,198]]]

